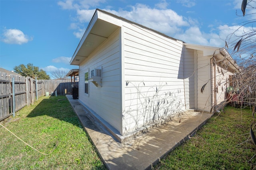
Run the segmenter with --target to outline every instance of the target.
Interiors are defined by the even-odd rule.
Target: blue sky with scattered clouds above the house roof
[[[51,75],[69,61],[96,8],[186,43],[224,47],[242,0],[0,0],[0,67],[32,63]],[[248,9],[249,11],[250,9]],[[253,9],[251,9],[251,13]]]

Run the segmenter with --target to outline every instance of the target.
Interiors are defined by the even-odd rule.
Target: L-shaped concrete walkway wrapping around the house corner
[[[106,167],[111,170],[151,169],[166,154],[206,123],[209,113],[190,111],[123,144],[116,142],[87,109],[66,95]],[[181,121],[180,121],[181,120]],[[180,123],[179,123],[180,121]]]

